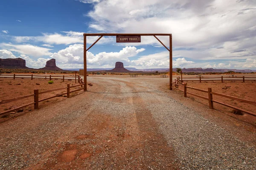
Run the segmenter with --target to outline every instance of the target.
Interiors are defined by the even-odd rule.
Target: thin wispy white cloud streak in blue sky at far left
[[[34,57],[51,55],[49,48],[38,47],[30,44],[14,45],[7,43],[0,43],[0,47],[9,51],[15,51],[20,54],[31,55]]]

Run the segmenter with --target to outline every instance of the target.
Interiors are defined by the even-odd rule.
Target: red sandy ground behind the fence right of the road
[[[187,86],[191,86],[194,88],[199,88],[202,90],[208,90],[208,88],[212,88],[213,92],[220,93],[220,94],[225,94],[229,96],[234,96],[237,98],[241,99],[246,99],[250,100],[253,102],[256,102],[256,83],[255,82],[224,82],[224,83],[219,83],[219,82],[187,82]],[[179,89],[182,87],[179,86]],[[188,92],[198,94],[201,96],[205,96],[208,98],[208,93],[192,90],[192,89],[187,89]],[[183,96],[183,92],[179,92]],[[196,96],[192,96],[190,94],[187,95],[192,100],[198,101],[202,104],[205,105],[205,107],[209,108],[209,102],[208,100],[201,99]],[[235,106],[237,108],[244,109],[246,111],[251,111],[253,113],[256,113],[256,105],[251,105],[245,102],[239,102],[237,100],[233,99],[228,99],[225,97],[221,96],[216,96],[213,95],[213,99],[218,101],[218,102],[223,102],[228,105]],[[213,103],[214,109],[218,111],[222,111],[230,116],[233,116],[237,119],[241,119],[245,122],[249,122],[250,124],[256,125],[256,116],[249,115],[247,113],[244,113],[243,115],[236,115],[233,113],[234,109],[226,107],[224,105],[220,105],[218,103]]]

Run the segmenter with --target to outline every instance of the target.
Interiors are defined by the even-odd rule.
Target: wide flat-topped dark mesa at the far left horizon
[[[29,69],[26,67],[26,60],[22,58],[8,58],[0,59],[0,68],[23,68]]]

